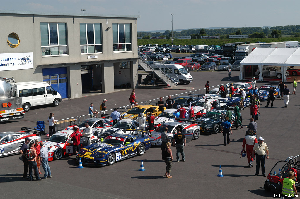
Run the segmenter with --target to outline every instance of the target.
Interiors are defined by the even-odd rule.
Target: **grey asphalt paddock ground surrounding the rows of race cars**
[[[174,55],[177,56],[177,55]],[[228,83],[227,72],[192,71],[193,82],[184,87],[202,89],[207,80],[210,86]],[[239,71],[232,72],[230,82],[239,82]],[[264,83],[256,83],[262,86]],[[289,84],[289,88],[292,85]],[[160,96],[178,94],[184,91],[164,89],[136,89],[137,101],[147,101]],[[0,124],[1,131],[19,131],[21,127],[35,127],[36,121],[44,120],[50,112],[55,119],[65,119],[88,114],[90,103],[99,110],[103,99],[107,99],[108,109],[129,104],[131,89],[114,93],[91,95],[86,98],[63,100],[58,107],[32,107],[21,121]],[[274,107],[265,107],[262,102],[259,109],[261,118],[257,121],[257,137],[263,136],[269,148],[269,159],[266,160],[266,172],[279,160],[299,154],[299,100],[298,95],[289,95],[288,107],[283,100],[275,98]],[[249,124],[249,107],[241,111],[242,124]],[[46,130],[48,126],[46,125]],[[221,133],[210,136],[200,135],[184,148],[186,161],[173,162],[171,174],[173,178],[164,176],[165,163],[160,161],[161,149],[150,148],[143,156],[133,157],[112,166],[93,168],[77,168],[75,156],[64,157],[49,162],[52,178],[42,181],[22,180],[23,162],[20,155],[1,158],[0,182],[3,198],[32,198],[28,193],[37,192],[44,198],[271,198],[274,192],[263,189],[266,177],[254,177],[255,165],[247,166],[247,158],[239,157],[245,127],[233,130],[231,144],[223,146]],[[46,139],[46,137],[43,137]],[[176,148],[171,147],[173,157]],[[143,160],[146,171],[138,171]],[[254,161],[253,164],[256,164]],[[219,166],[222,166],[224,177],[217,177]],[[43,169],[41,169],[43,171]],[[24,193],[26,193],[24,195]]]

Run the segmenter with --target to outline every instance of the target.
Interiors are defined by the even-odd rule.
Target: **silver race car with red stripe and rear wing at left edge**
[[[30,142],[36,139],[41,142],[41,131],[32,128],[22,127],[19,132],[3,132],[0,133],[0,157],[19,154],[21,146],[25,142],[25,138],[29,138]],[[29,144],[28,144],[29,147]]]

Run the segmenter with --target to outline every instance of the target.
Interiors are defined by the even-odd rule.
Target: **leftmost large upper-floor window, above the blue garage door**
[[[67,55],[66,23],[41,22],[42,56]]]

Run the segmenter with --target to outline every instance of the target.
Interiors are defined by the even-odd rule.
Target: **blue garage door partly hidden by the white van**
[[[59,92],[61,94],[61,98],[67,98],[67,67],[43,69],[43,81],[49,83],[54,90]]]

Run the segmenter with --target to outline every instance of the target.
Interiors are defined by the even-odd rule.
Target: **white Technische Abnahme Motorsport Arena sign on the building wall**
[[[33,53],[0,54],[0,71],[33,69]]]

